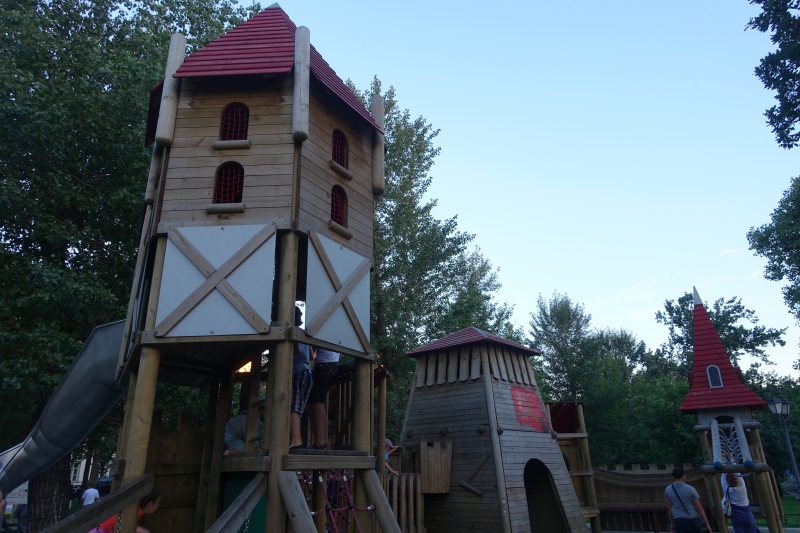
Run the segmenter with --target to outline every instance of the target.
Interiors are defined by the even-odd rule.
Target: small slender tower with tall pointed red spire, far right
[[[714,518],[717,524],[727,524],[720,505],[719,475],[747,474],[746,484],[750,494],[755,496],[751,497],[751,502],[758,503],[770,533],[782,533],[775,476],[767,466],[761,446],[758,433],[761,424],[753,420],[751,414],[753,409],[765,405],[766,402],[745,385],[741,370],[731,364],[694,289],[694,362],[689,373],[689,394],[680,410],[697,416],[695,431],[700,436],[706,460],[702,471],[707,478]]]

